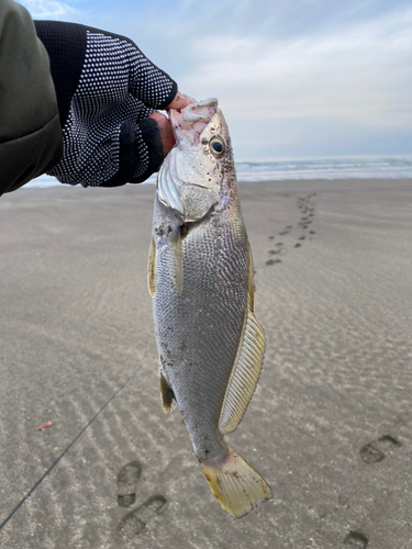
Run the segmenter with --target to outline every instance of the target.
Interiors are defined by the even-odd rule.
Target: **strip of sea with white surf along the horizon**
[[[290,179],[409,179],[412,155],[334,156],[270,158],[236,161],[238,181],[285,181]],[[145,183],[155,183],[154,173]],[[57,179],[41,176],[29,187],[54,187]]]

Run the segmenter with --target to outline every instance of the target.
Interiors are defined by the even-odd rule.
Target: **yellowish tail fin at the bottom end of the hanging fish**
[[[272,497],[269,484],[230,446],[223,461],[201,461],[203,473],[213,495],[231,515],[240,518],[257,502]]]

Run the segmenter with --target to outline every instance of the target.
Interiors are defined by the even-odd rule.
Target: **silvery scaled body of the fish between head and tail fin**
[[[155,216],[153,305],[159,366],[196,453],[212,458],[222,452],[218,424],[247,307],[247,236],[236,210],[192,224],[176,244],[170,235],[178,226],[170,214]]]

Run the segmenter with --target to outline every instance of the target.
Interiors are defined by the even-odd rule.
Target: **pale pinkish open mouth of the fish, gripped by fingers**
[[[187,139],[191,145],[198,144],[200,134],[216,112],[216,98],[190,103],[181,111],[169,109],[168,114],[176,143]]]

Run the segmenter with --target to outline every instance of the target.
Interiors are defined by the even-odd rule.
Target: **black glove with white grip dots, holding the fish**
[[[48,175],[63,183],[140,183],[163,160],[155,109],[177,83],[125,36],[75,23],[35,21],[51,58],[64,153]]]

